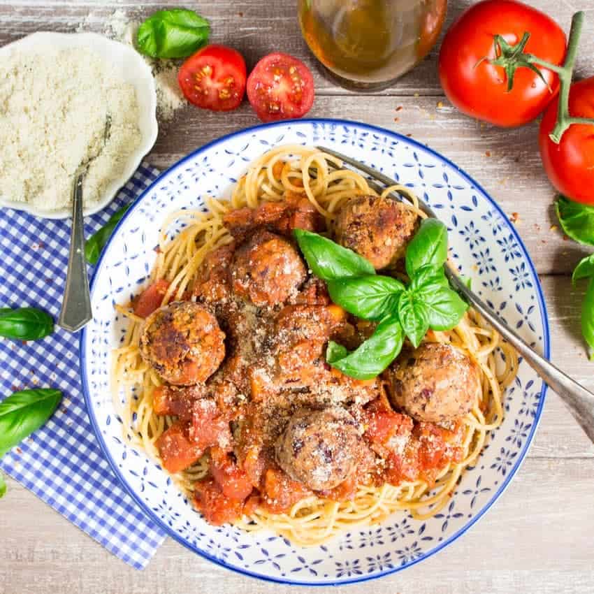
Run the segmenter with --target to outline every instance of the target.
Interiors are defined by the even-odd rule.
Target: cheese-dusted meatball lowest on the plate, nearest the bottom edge
[[[276,442],[277,463],[313,491],[334,488],[356,466],[359,435],[344,409],[299,409]]]

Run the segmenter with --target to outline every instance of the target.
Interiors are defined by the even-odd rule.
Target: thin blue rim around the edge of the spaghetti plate
[[[224,143],[224,142],[226,142],[226,140],[229,140],[230,138],[234,138],[235,136],[243,135],[243,134],[250,133],[250,132],[257,132],[262,129],[275,128],[275,127],[281,127],[281,126],[287,126],[287,125],[313,126],[315,124],[330,124],[330,125],[335,125],[335,126],[354,126],[354,127],[358,127],[358,128],[363,128],[363,129],[368,130],[373,133],[380,133],[380,134],[384,134],[385,136],[390,136],[391,138],[398,140],[398,142],[400,142],[400,143],[405,143],[405,144],[411,145],[412,147],[419,148],[420,150],[427,151],[430,154],[432,154],[436,159],[439,159],[440,161],[442,161],[442,163],[445,163],[445,164],[449,165],[450,167],[453,167],[454,169],[456,169],[456,171],[458,171],[458,173],[460,175],[462,175],[462,177],[465,178],[465,180],[467,180],[470,183],[471,187],[473,187],[477,191],[479,191],[482,194],[482,196],[484,196],[488,200],[488,202],[491,203],[491,205],[493,206],[493,208],[495,208],[495,210],[499,213],[499,215],[501,215],[501,217],[507,222],[507,224],[509,226],[509,230],[511,231],[512,235],[514,236],[514,239],[516,240],[516,242],[518,242],[518,245],[520,246],[520,249],[523,252],[524,257],[526,258],[526,261],[528,262],[528,266],[530,267],[530,273],[532,273],[533,279],[535,280],[535,289],[536,289],[538,304],[539,304],[539,308],[540,308],[540,312],[541,312],[541,320],[542,320],[542,328],[543,328],[543,337],[542,338],[543,338],[543,343],[544,343],[543,344],[544,356],[546,358],[549,358],[549,356],[550,356],[549,319],[548,319],[548,314],[546,312],[546,305],[544,303],[544,295],[542,293],[542,287],[540,285],[540,281],[539,281],[537,272],[535,270],[534,263],[533,263],[532,259],[530,258],[530,254],[528,254],[528,249],[526,249],[526,245],[524,245],[524,242],[522,241],[521,237],[519,236],[519,233],[514,228],[514,225],[509,223],[509,219],[508,219],[507,215],[505,215],[505,212],[502,211],[500,205],[498,205],[498,203],[496,203],[495,200],[493,200],[493,198],[491,198],[491,196],[483,189],[483,187],[481,187],[480,184],[475,182],[475,180],[473,178],[471,178],[470,175],[468,175],[468,173],[465,173],[465,171],[463,171],[463,169],[458,167],[456,164],[454,164],[452,161],[450,161],[446,157],[443,157],[440,153],[436,152],[435,150],[427,147],[426,145],[423,145],[423,144],[417,142],[416,140],[412,140],[412,138],[407,138],[407,137],[402,136],[401,134],[398,134],[391,130],[386,130],[384,128],[380,128],[379,126],[373,126],[372,124],[364,124],[363,122],[352,122],[347,119],[326,119],[326,118],[291,119],[291,120],[285,120],[283,122],[273,122],[270,124],[260,124],[258,126],[250,126],[249,128],[245,128],[240,131],[233,132],[231,134],[227,134],[226,136],[221,136],[220,138],[212,140],[210,143],[207,143],[207,144],[199,147],[195,151],[187,154],[186,157],[184,157],[183,159],[180,159],[180,161],[173,164],[170,168],[168,168],[166,171],[161,173],[157,177],[157,179],[154,180],[154,182],[152,182],[152,184],[150,184],[150,186],[147,187],[147,189],[145,189],[145,191],[143,191],[143,193],[140,194],[140,196],[138,196],[138,198],[136,198],[136,201],[134,201],[132,203],[131,207],[127,210],[124,217],[122,217],[122,220],[119,221],[119,223],[115,227],[110,239],[108,240],[106,246],[103,247],[101,256],[99,256],[99,261],[97,261],[97,263],[95,265],[95,270],[93,273],[93,277],[91,280],[91,287],[90,287],[91,296],[93,295],[96,273],[101,268],[103,256],[108,252],[108,247],[110,245],[110,242],[116,236],[116,233],[119,230],[119,227],[132,214],[133,210],[135,210],[138,207],[138,205],[143,201],[145,196],[150,194],[152,189],[154,189],[154,187],[157,186],[157,184],[159,184],[159,182],[161,181],[162,178],[164,178],[166,175],[169,175],[169,173],[171,173],[173,170],[182,166],[189,159],[192,159],[192,158],[196,157],[196,155],[201,154],[201,152],[204,152],[205,150],[208,150],[220,143]],[[399,567],[393,567],[392,569],[385,570],[385,571],[379,572],[377,574],[373,574],[370,576],[356,577],[353,579],[337,580],[337,581],[333,581],[333,580],[317,581],[317,582],[296,581],[296,580],[291,580],[291,579],[283,579],[281,577],[278,577],[278,578],[270,577],[268,575],[250,572],[250,571],[244,570],[240,567],[234,567],[233,565],[228,565],[227,563],[224,563],[224,561],[209,555],[207,552],[202,551],[201,549],[198,549],[198,547],[193,546],[189,542],[182,539],[182,537],[180,537],[180,535],[178,535],[178,533],[176,533],[175,530],[173,530],[173,528],[168,526],[167,523],[162,521],[159,518],[159,516],[157,516],[157,514],[154,514],[150,510],[150,508],[147,507],[147,505],[145,505],[145,502],[143,502],[143,500],[140,499],[140,497],[136,494],[136,491],[132,488],[132,486],[129,484],[129,482],[126,481],[126,479],[124,478],[124,475],[119,470],[116,461],[113,459],[113,457],[109,453],[107,444],[106,444],[105,440],[103,439],[103,435],[101,435],[101,429],[99,428],[99,423],[97,423],[97,419],[94,414],[94,410],[91,406],[91,398],[89,396],[89,386],[87,384],[87,375],[85,372],[85,369],[86,369],[85,361],[87,359],[87,353],[86,353],[86,349],[85,349],[85,337],[86,337],[86,328],[82,328],[82,332],[80,333],[80,347],[79,347],[79,349],[80,349],[80,365],[81,365],[81,367],[80,367],[81,374],[80,375],[82,377],[82,392],[83,392],[83,395],[85,396],[85,403],[87,405],[87,412],[89,414],[89,419],[93,426],[95,435],[96,435],[97,439],[99,440],[99,445],[100,445],[101,449],[103,450],[103,454],[106,456],[108,463],[110,464],[113,472],[115,473],[115,476],[122,483],[122,486],[127,491],[127,493],[129,493],[131,498],[136,502],[138,507],[140,507],[140,509],[143,510],[145,515],[152,522],[157,524],[157,526],[159,526],[159,528],[161,528],[161,530],[163,530],[167,535],[169,535],[171,538],[173,538],[174,540],[176,540],[183,546],[186,546],[191,551],[194,551],[194,553],[197,553],[198,555],[202,556],[203,558],[208,559],[209,561],[212,561],[212,563],[216,563],[217,565],[219,565],[221,567],[225,567],[228,570],[237,572],[242,575],[247,575],[249,577],[254,577],[256,579],[262,579],[264,581],[271,581],[271,582],[275,582],[277,584],[291,584],[294,586],[342,586],[344,584],[355,584],[355,583],[361,582],[361,581],[368,581],[371,579],[377,579],[379,577],[384,577],[386,575],[405,570],[407,567],[411,567],[412,565],[416,565],[416,563],[419,563],[420,561],[423,561],[423,560],[435,555],[435,553],[444,549],[446,546],[448,546],[449,544],[454,542],[456,539],[458,539],[458,537],[461,537],[461,535],[463,535],[469,528],[474,526],[475,523],[477,523],[477,521],[479,519],[481,519],[482,516],[484,516],[484,514],[488,511],[488,509],[491,508],[493,503],[495,503],[495,501],[500,498],[500,495],[502,495],[503,491],[505,491],[505,489],[507,488],[509,483],[512,481],[512,478],[514,477],[514,475],[516,474],[516,472],[519,470],[520,466],[522,465],[523,460],[526,457],[526,454],[528,454],[528,450],[530,449],[530,445],[532,444],[537,426],[540,421],[540,417],[542,415],[542,408],[544,407],[544,399],[546,396],[546,388],[547,388],[546,384],[544,382],[542,382],[542,389],[540,391],[539,404],[538,404],[538,407],[536,410],[535,420],[534,420],[532,429],[530,430],[530,433],[528,434],[528,437],[526,439],[526,443],[524,444],[524,447],[523,447],[523,449],[520,453],[520,456],[519,456],[518,460],[516,461],[514,467],[511,470],[509,470],[505,481],[503,481],[503,483],[500,485],[500,487],[498,488],[498,491],[495,491],[493,497],[486,503],[486,505],[484,505],[484,507],[480,510],[480,512],[478,512],[477,515],[474,516],[470,520],[470,522],[468,524],[465,524],[465,526],[463,526],[463,528],[461,528],[456,533],[451,535],[451,537],[449,537],[448,539],[444,540],[442,543],[439,544],[439,546],[436,546],[435,549],[432,549],[428,553],[421,555],[419,558],[411,560],[410,562],[405,563],[405,565],[400,565]]]

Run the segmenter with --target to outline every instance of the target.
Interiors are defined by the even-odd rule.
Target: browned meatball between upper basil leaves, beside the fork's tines
[[[376,270],[393,267],[405,255],[418,217],[391,198],[356,196],[338,212],[336,240],[368,259]]]

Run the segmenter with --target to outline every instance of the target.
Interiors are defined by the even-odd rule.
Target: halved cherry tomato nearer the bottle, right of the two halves
[[[247,99],[262,122],[303,117],[314,102],[314,78],[297,58],[268,54],[247,79]]]

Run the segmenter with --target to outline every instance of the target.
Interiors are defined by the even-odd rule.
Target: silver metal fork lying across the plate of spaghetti
[[[384,187],[397,185],[398,182],[387,177],[374,168],[369,167],[356,159],[352,159],[345,154],[336,152],[326,147],[316,147],[318,150],[336,157],[350,165],[352,168],[365,173],[371,180],[368,183],[375,191],[382,191]],[[399,201],[402,201],[402,196],[396,192],[392,193]],[[428,216],[437,219],[435,211],[430,206],[418,198],[419,208]],[[567,374],[557,368],[553,363],[548,361],[543,356],[539,355],[530,345],[528,345],[523,338],[521,338],[512,328],[509,328],[497,314],[484,303],[477,294],[471,291],[458,277],[456,272],[447,264],[445,273],[451,287],[458,292],[465,300],[472,305],[472,307],[481,314],[481,316],[495,328],[500,335],[502,335],[507,342],[509,342],[514,349],[522,356],[522,358],[530,365],[530,367],[537,372],[537,374],[544,379],[546,384],[549,384],[551,389],[556,391],[560,398],[563,399],[567,408],[574,416],[574,419],[579,423],[586,435],[590,437],[591,442],[594,442],[594,394],[586,390],[584,386],[578,384],[574,379],[571,379]]]

